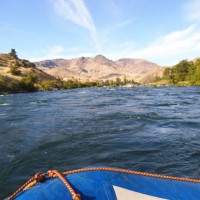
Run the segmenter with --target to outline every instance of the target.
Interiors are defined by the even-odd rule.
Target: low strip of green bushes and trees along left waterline
[[[82,82],[77,79],[69,79],[67,81],[63,81],[62,79],[43,80],[41,85],[38,83],[37,80],[37,75],[32,73],[22,78],[21,81],[13,81],[8,77],[3,77],[0,75],[0,94],[52,91],[90,87],[133,87],[140,85],[139,83],[134,81],[126,81],[126,83],[124,83],[123,81],[121,81],[120,78],[117,78],[116,80],[85,82]]]

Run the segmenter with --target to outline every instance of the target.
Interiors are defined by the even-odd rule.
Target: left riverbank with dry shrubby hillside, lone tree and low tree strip
[[[2,75],[2,71],[6,71],[5,75]],[[0,57],[0,94],[124,85],[138,86],[140,83],[127,80],[126,77],[96,81],[74,78],[63,80],[46,74],[28,60],[19,59],[15,49],[11,49],[9,54],[1,54]]]

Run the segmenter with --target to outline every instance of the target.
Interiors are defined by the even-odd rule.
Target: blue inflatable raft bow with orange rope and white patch
[[[44,177],[43,177],[44,178]],[[200,180],[148,174],[116,168],[84,168],[49,172],[9,199],[17,200],[199,200]],[[34,182],[34,183],[33,183]],[[36,183],[37,182],[37,183]],[[27,189],[27,187],[29,189]]]

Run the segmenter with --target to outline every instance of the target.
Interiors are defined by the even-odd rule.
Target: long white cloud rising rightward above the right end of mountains
[[[142,49],[136,48],[135,44],[125,44],[124,47],[123,51],[110,53],[110,56],[113,59],[144,58],[161,65],[166,62],[172,65],[181,59],[189,59],[188,55],[200,52],[200,31],[197,26],[191,25],[184,30],[162,36]]]

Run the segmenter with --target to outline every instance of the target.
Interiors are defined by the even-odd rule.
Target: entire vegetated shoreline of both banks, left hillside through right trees
[[[0,94],[105,86],[200,86],[200,59],[183,60],[166,67],[162,77],[156,76],[151,83],[142,84],[126,77],[115,80],[63,80],[46,74],[28,60],[19,59],[15,49],[0,55]],[[6,73],[3,74],[3,71]]]

